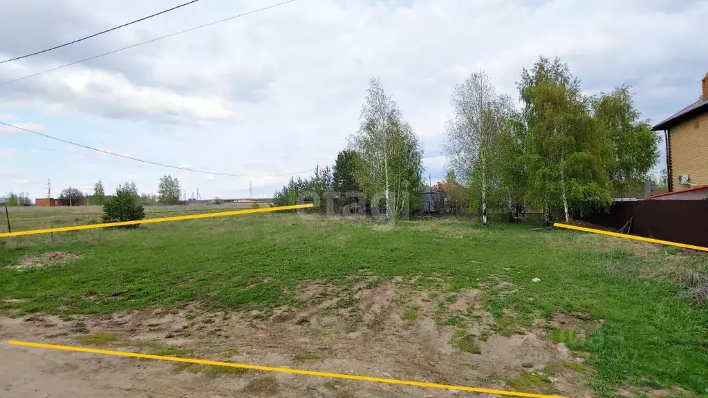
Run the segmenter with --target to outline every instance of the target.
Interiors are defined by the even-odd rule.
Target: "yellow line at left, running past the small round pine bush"
[[[233,210],[230,212],[213,212],[213,213],[202,213],[193,215],[176,215],[173,217],[161,217],[161,218],[145,218],[143,220],[135,221],[120,221],[120,222],[106,222],[105,224],[89,224],[89,225],[74,225],[72,227],[58,227],[58,228],[47,228],[47,229],[32,229],[30,231],[18,231],[18,232],[4,232],[0,234],[0,238],[7,237],[21,237],[23,235],[35,235],[35,234],[49,234],[51,232],[67,232],[67,231],[80,231],[81,229],[95,229],[95,228],[108,228],[108,227],[122,227],[125,225],[136,225],[136,224],[152,224],[154,222],[168,222],[168,221],[181,221],[181,220],[195,220],[198,218],[210,218],[210,217],[224,217],[227,215],[241,215],[241,214],[252,214],[252,213],[264,213],[264,212],[277,212],[280,210],[295,210],[295,209],[305,209],[307,207],[312,207],[312,203],[305,203],[304,205],[290,205],[290,206],[280,206],[280,207],[263,207],[262,209],[245,209],[245,210]]]

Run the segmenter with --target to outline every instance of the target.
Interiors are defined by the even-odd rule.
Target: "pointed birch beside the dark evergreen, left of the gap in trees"
[[[416,202],[423,171],[418,137],[378,79],[371,79],[350,149],[360,155],[355,179],[369,198],[383,193],[386,220],[395,220]],[[378,203],[372,203],[378,205]]]

